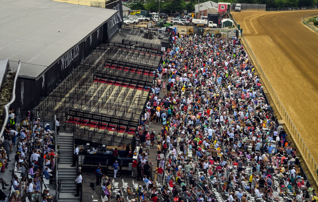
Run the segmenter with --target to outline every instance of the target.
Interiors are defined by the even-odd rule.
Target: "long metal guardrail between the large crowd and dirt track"
[[[254,64],[255,68],[257,69],[257,71],[259,72],[262,80],[266,83],[266,87],[267,87],[268,93],[270,93],[273,101],[278,103],[278,109],[281,112],[282,118],[286,120],[285,124],[286,124],[286,127],[288,127],[290,129],[290,131],[289,131],[291,133],[290,135],[292,136],[294,142],[298,143],[297,144],[298,150],[300,150],[300,151],[302,151],[304,153],[304,155],[301,154],[302,157],[303,157],[303,160],[308,163],[307,164],[308,168],[314,169],[314,173],[315,173],[315,171],[317,171],[317,169],[318,169],[318,166],[317,166],[314,158],[310,154],[307,146],[305,145],[305,142],[303,141],[303,139],[301,138],[301,135],[297,131],[296,127],[294,126],[294,123],[292,122],[290,116],[287,114],[287,111],[286,111],[285,107],[281,104],[281,102],[280,102],[275,90],[273,89],[271,83],[269,82],[269,80],[268,80],[266,74],[264,73],[262,67],[259,65],[259,62],[257,61],[257,59],[256,59],[251,47],[248,45],[248,43],[247,43],[247,41],[246,41],[246,39],[245,39],[243,34],[242,34],[242,37],[241,37],[241,41],[244,43],[244,45],[245,45],[244,48],[248,52],[248,54],[250,55],[250,59],[252,59],[253,64]],[[313,176],[315,176],[315,175],[313,175]],[[317,181],[315,181],[315,183],[317,185]]]

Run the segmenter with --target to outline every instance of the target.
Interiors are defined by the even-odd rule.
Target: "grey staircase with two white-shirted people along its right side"
[[[59,146],[59,165],[58,165],[58,181],[59,186],[59,202],[80,202],[80,197],[74,197],[73,187],[77,177],[77,167],[71,167],[73,163],[74,136],[73,133],[60,132],[57,136],[57,144]]]

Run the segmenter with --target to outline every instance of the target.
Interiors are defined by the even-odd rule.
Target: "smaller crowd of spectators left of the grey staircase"
[[[28,111],[17,124],[16,111],[10,111],[1,141],[0,161],[1,172],[8,172],[8,164],[13,164],[13,174],[6,173],[12,174],[13,178],[11,182],[0,178],[2,189],[10,189],[8,196],[4,192],[0,195],[7,198],[6,201],[53,201],[48,188],[54,179],[55,159],[58,157],[53,148],[54,136],[48,123],[43,126],[40,118],[33,120]],[[6,188],[8,185],[11,186]]]

